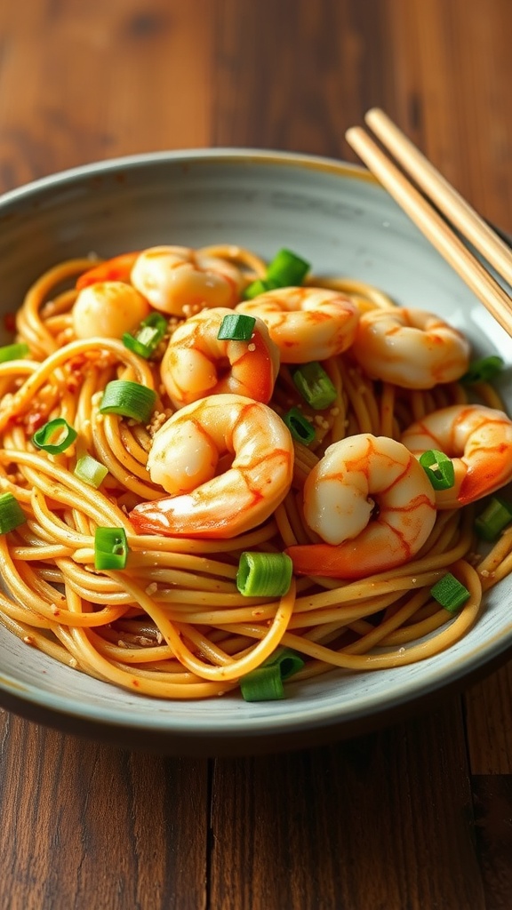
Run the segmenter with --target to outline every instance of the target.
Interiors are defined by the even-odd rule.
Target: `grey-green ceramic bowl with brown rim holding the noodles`
[[[0,199],[1,307],[62,258],[160,243],[287,246],[316,272],[343,273],[464,327],[476,352],[512,359],[510,339],[360,168],[273,152],[209,150],[130,157],[40,180]],[[510,370],[508,370],[510,375]],[[512,404],[512,383],[505,383]],[[332,672],[289,685],[282,702],[238,696],[170,703],[134,697],[52,662],[0,628],[0,703],[41,723],[168,753],[251,753],[325,742],[417,710],[503,659],[512,581],[475,628],[435,658],[396,670]]]

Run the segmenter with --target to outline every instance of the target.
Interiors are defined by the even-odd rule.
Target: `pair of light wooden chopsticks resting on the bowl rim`
[[[400,167],[386,156],[383,148],[361,126],[347,130],[348,144],[500,326],[512,336],[511,298],[447,222],[454,225],[461,237],[466,238],[496,269],[497,274],[512,286],[512,252],[507,244],[459,196],[384,111],[373,108],[364,120]]]

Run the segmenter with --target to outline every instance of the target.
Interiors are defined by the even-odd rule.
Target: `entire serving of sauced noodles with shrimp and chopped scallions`
[[[511,571],[500,362],[435,313],[218,244],[56,264],[13,318],[0,622],[27,647],[282,698],[434,657]]]

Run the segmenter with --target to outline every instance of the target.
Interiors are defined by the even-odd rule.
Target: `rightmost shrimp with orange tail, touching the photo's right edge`
[[[436,449],[453,460],[455,485],[435,490],[438,509],[457,509],[512,480],[512,420],[502,410],[450,405],[417,420],[401,440],[417,457]]]

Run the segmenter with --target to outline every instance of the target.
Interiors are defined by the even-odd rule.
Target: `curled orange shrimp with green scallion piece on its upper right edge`
[[[256,319],[249,341],[217,338],[229,308],[203,309],[182,322],[169,340],[160,377],[175,408],[222,392],[270,401],[279,371],[279,350]]]

